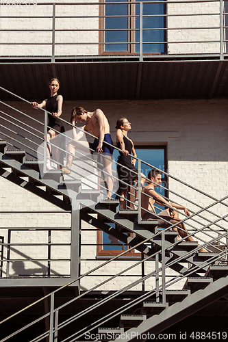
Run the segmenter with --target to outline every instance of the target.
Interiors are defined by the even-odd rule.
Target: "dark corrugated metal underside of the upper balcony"
[[[47,81],[54,76],[65,100],[228,95],[226,60],[0,64],[0,86],[26,99],[45,98]],[[1,92],[1,97],[8,95]]]

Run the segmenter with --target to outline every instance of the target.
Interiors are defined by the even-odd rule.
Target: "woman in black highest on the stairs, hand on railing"
[[[57,92],[60,88],[60,81],[58,79],[51,79],[49,82],[49,88],[51,90],[51,96],[46,100],[42,101],[42,103],[38,104],[37,102],[31,102],[32,107],[40,107],[43,108],[46,106],[47,111],[51,114],[49,116],[49,123],[48,126],[51,127],[49,131],[47,131],[47,170],[51,170],[51,160],[49,159],[51,156],[51,145],[49,144],[51,139],[58,137],[58,131],[60,133],[64,133],[64,125],[62,121],[58,119],[62,114],[62,103],[63,98],[62,95],[58,95]],[[55,131],[54,131],[55,129]],[[61,135],[60,137],[60,148],[62,150],[65,149],[65,140],[64,137]],[[55,156],[55,160],[58,162],[58,168],[62,168],[63,159],[64,159],[64,151],[59,150],[58,148],[53,148],[53,154]],[[61,165],[62,164],[62,165]]]

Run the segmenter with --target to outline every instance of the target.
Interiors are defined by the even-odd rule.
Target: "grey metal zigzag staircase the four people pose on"
[[[45,115],[47,118],[47,112],[45,112]],[[73,239],[79,239],[79,227],[82,220],[122,241],[123,244],[129,246],[129,249],[116,257],[108,259],[85,274],[80,275],[78,269],[76,269],[71,274],[71,280],[62,287],[55,289],[34,302],[34,304],[1,321],[0,326],[4,326],[11,319],[20,317],[31,306],[42,302],[42,300],[47,300],[47,298],[50,300],[48,313],[40,315],[35,321],[31,321],[26,326],[22,325],[21,328],[12,332],[9,336],[5,333],[1,339],[2,342],[16,341],[13,340],[14,337],[20,337],[21,332],[47,319],[47,317],[49,317],[49,328],[36,337],[29,338],[29,341],[38,342],[47,341],[47,339],[55,342],[80,341],[85,338],[85,334],[92,333],[101,337],[98,337],[96,341],[118,341],[120,339],[119,334],[121,335],[121,341],[144,340],[145,334],[159,334],[177,321],[196,311],[200,311],[208,304],[216,302],[219,298],[227,295],[228,214],[226,213],[227,204],[225,200],[228,196],[218,200],[201,192],[203,196],[207,195],[212,200],[212,203],[207,207],[197,205],[198,210],[191,211],[190,218],[183,217],[183,220],[181,220],[188,225],[188,228],[192,228],[190,235],[197,241],[187,242],[184,239],[177,241],[177,233],[170,231],[170,228],[160,230],[157,229],[156,221],[141,219],[140,200],[138,210],[131,209],[132,201],[129,200],[128,209],[121,211],[118,200],[102,199],[105,192],[105,184],[102,183],[105,175],[102,171],[99,176],[99,171],[101,171],[99,168],[100,161],[97,161],[95,166],[99,182],[91,189],[83,189],[83,184],[86,181],[85,179],[79,179],[77,172],[75,174],[72,172],[73,174],[70,177],[66,177],[62,175],[61,170],[47,171],[45,170],[45,154],[43,160],[35,157],[29,160],[31,146],[25,146],[25,149],[22,150],[21,148],[17,149],[16,144],[16,141],[12,144],[12,138],[10,138],[10,142],[6,140],[0,141],[0,175],[3,178],[48,200],[65,211],[71,211],[73,222],[72,241]],[[86,162],[94,165],[94,159],[89,160],[87,158]],[[142,162],[139,160],[139,169]],[[171,175],[167,174],[167,176],[175,179]],[[171,190],[169,191],[172,193]],[[197,189],[195,191],[200,192]],[[175,193],[173,192],[173,194]],[[178,194],[175,194],[175,196],[178,196]],[[179,196],[179,198],[183,199],[183,196]],[[220,216],[215,212],[214,220],[212,220],[212,209],[216,205],[225,208],[225,215]],[[210,214],[210,218],[203,216],[206,223],[201,222],[202,213]],[[220,222],[223,222],[223,224],[220,224]],[[110,223],[114,225],[110,226]],[[200,228],[194,228],[194,223],[197,223],[197,226],[200,225]],[[199,232],[201,235],[199,235]],[[201,246],[199,246],[198,240]],[[199,252],[202,246],[207,249],[207,253]],[[79,246],[76,246],[76,249],[77,253],[79,253]],[[61,291],[73,284],[77,284],[79,287],[81,278],[96,272],[103,265],[111,264],[118,259],[121,260],[121,257],[133,249],[141,252],[142,260],[137,261],[134,265],[127,267],[107,280],[103,280],[101,284],[94,285],[88,291],[80,292],[78,290],[71,300],[66,300],[64,303],[60,301]],[[119,290],[108,291],[105,295],[101,291],[98,294],[99,287],[102,287],[107,282],[112,282],[114,278],[118,279],[126,272],[131,272],[131,269],[142,265],[148,260],[153,261],[155,265],[151,272],[131,282],[131,284],[121,287]],[[112,267],[111,265],[110,267]],[[170,269],[175,271],[175,275],[171,279],[167,276],[167,271]],[[134,295],[132,290],[136,285],[152,278],[155,280],[154,288],[151,287],[150,291],[140,291],[140,293]],[[186,279],[183,289],[173,289],[173,286],[183,279]],[[2,279],[2,281],[4,280]],[[170,287],[172,288],[170,289]],[[77,303],[79,303],[78,306]],[[61,313],[66,311],[68,306],[73,306],[70,317],[64,319],[63,316],[60,320]],[[76,323],[77,321],[79,324]],[[86,340],[92,341],[94,339],[86,338]]]

